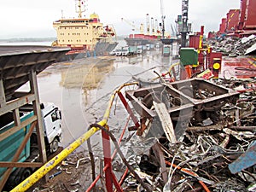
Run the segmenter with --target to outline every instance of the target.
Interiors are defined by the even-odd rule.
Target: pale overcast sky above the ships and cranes
[[[54,20],[76,16],[74,0],[0,0],[0,38],[55,37]],[[104,24],[113,25],[118,35],[131,33],[131,26],[121,18],[146,26],[148,14],[160,22],[160,0],[88,0],[84,15],[93,12]],[[181,15],[182,0],[163,0],[166,30],[171,30],[177,15]],[[230,9],[240,9],[240,0],[189,0],[189,22],[194,32],[205,26],[205,32],[218,31],[221,18]]]

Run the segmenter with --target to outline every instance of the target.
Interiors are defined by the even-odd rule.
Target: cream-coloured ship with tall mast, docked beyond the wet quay
[[[78,18],[55,20],[53,26],[57,39],[52,46],[69,47],[71,50],[62,60],[73,60],[91,55],[108,55],[116,45],[113,26],[103,26],[96,13],[89,18],[83,18],[85,11],[84,0],[76,0]]]

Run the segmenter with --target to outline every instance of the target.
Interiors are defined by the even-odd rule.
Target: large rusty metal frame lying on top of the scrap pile
[[[126,91],[125,94],[135,111],[141,116],[142,126],[138,130],[140,135],[145,137],[143,131],[151,125],[159,126],[156,125],[159,119],[153,102],[162,102],[166,105],[172,119],[177,140],[183,137],[189,122],[198,125],[207,118],[215,123],[218,122],[218,110],[226,103],[235,104],[239,97],[239,92],[204,79],[186,79],[173,83],[148,85],[137,90]],[[146,123],[147,119],[153,124]],[[154,128],[152,131],[155,135],[160,135],[162,132],[157,129]]]

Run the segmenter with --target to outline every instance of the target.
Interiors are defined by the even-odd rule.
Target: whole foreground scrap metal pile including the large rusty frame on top
[[[255,90],[229,88],[189,79],[126,91],[140,140],[122,148],[151,191],[256,190]],[[130,175],[125,191],[148,189]]]

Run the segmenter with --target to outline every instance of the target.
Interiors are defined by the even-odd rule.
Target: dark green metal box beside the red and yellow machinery
[[[180,62],[183,66],[197,65],[198,53],[194,48],[181,48],[180,49]]]

